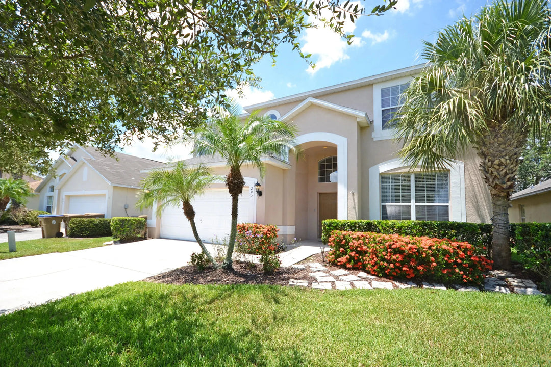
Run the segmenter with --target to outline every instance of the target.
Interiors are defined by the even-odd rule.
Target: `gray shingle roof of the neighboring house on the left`
[[[84,157],[92,167],[105,177],[111,184],[140,187],[139,182],[147,176],[142,173],[143,169],[160,166],[163,162],[154,161],[147,158],[131,156],[124,153],[116,153],[115,157],[103,156],[94,147],[83,147],[94,159]]]

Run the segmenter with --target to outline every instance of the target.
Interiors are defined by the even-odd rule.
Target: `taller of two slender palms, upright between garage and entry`
[[[229,108],[219,107],[215,117],[193,137],[194,152],[198,155],[218,154],[230,168],[225,184],[231,195],[231,228],[225,269],[233,269],[231,255],[234,252],[237,232],[237,202],[245,186],[241,166],[248,163],[258,168],[264,177],[266,167],[262,157],[285,156],[296,152],[294,140],[298,131],[293,124],[272,120],[253,112],[246,120],[239,117],[241,108],[229,101]]]

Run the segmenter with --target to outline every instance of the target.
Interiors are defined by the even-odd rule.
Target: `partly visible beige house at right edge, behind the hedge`
[[[511,196],[511,223],[551,222],[551,179]]]

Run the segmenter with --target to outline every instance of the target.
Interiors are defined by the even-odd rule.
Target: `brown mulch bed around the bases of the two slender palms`
[[[298,264],[305,265],[309,262],[319,262],[327,267],[324,272],[343,269],[339,266],[333,266],[322,261],[322,255],[316,254]],[[145,279],[146,282],[165,283],[165,284],[269,284],[277,286],[288,286],[289,280],[300,279],[315,281],[309,274],[313,271],[308,267],[306,269],[294,269],[293,267],[280,267],[272,274],[264,274],[262,266],[250,264],[248,262],[234,261],[234,270],[208,268],[199,271],[196,266],[183,266],[179,269],[171,270],[159,275]],[[357,271],[354,271],[357,273]],[[334,277],[338,280],[338,277]],[[391,282],[385,278],[376,278],[381,282]],[[393,284],[395,288],[397,286]],[[334,287],[334,284],[333,284]]]

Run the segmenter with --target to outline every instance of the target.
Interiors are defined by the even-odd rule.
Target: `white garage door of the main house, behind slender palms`
[[[197,233],[204,242],[217,238],[229,238],[231,227],[231,196],[228,189],[210,189],[191,202],[195,209]],[[239,196],[237,223],[251,223],[254,218],[255,200],[253,190],[243,188]],[[190,222],[183,215],[182,208],[168,207],[161,214],[162,238],[187,239],[195,241]]]

